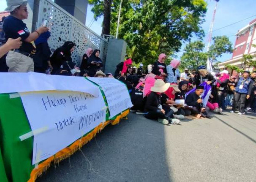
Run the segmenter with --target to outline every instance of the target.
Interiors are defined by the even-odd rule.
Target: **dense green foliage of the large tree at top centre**
[[[89,4],[94,6],[95,19],[103,15],[102,0],[89,0]],[[112,0],[111,35],[116,34],[119,5],[120,0]],[[161,53],[169,58],[192,35],[202,39],[206,6],[204,0],[124,0],[118,38],[138,48],[135,62],[152,64]]]

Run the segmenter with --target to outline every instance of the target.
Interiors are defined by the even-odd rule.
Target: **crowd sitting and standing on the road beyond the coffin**
[[[166,66],[167,56],[160,54],[153,65],[136,71],[128,59],[117,65],[115,78],[123,81],[131,94],[132,112],[162,124],[178,124],[185,116],[211,118],[210,111],[245,115],[256,110],[256,71],[230,76],[227,70],[209,72],[206,66],[180,72],[180,61]]]

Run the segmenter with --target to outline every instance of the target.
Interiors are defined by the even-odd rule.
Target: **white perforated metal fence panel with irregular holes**
[[[99,57],[105,65],[108,50],[106,39],[98,36],[51,0],[40,0],[37,25],[42,25],[44,20],[47,20],[47,25],[51,27],[48,44],[52,52],[61,47],[65,41],[73,41],[76,48],[72,54],[72,61],[78,66],[89,47],[101,51]]]

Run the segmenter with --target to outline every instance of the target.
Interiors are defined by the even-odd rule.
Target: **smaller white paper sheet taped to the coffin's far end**
[[[109,106],[110,118],[132,107],[131,98],[127,87],[114,78],[88,78],[101,86]]]

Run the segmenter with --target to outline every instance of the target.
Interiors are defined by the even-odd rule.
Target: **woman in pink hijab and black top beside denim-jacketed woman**
[[[158,76],[165,77],[167,75],[166,70],[166,60],[167,56],[165,54],[160,54],[158,56],[158,61],[154,63],[152,73]]]

